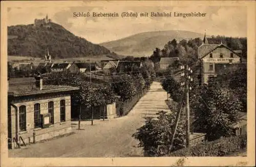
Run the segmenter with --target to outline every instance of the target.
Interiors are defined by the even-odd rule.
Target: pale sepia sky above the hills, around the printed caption
[[[116,12],[119,17],[73,17],[74,12]],[[201,12],[205,17],[126,17],[122,12]],[[149,31],[185,30],[207,35],[246,37],[246,7],[241,6],[198,6],[159,3],[40,3],[9,7],[8,26],[27,25],[34,19],[48,14],[53,22],[63,26],[73,34],[93,43],[121,39],[137,33]]]

